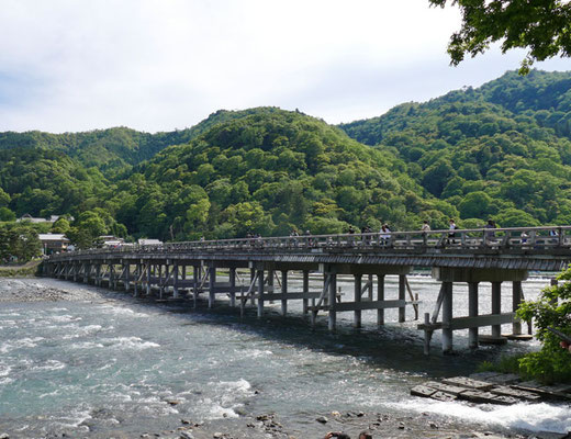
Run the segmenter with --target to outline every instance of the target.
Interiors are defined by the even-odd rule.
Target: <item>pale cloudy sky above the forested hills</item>
[[[428,0],[0,0],[0,132],[154,133],[261,105],[336,124],[519,67],[497,47],[449,66],[459,27]]]

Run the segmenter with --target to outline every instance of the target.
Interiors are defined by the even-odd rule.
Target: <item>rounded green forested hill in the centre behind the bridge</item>
[[[445,225],[456,210],[415,184],[392,154],[325,122],[277,109],[222,113],[226,122],[169,147],[120,184],[119,222],[176,239],[339,233],[381,222]]]

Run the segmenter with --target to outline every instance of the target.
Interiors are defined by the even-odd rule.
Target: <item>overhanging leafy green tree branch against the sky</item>
[[[448,45],[451,64],[466,55],[485,52],[491,43],[502,42],[502,53],[527,48],[522,74],[536,60],[571,55],[571,3],[564,0],[428,0],[433,5],[458,5],[462,26]]]

